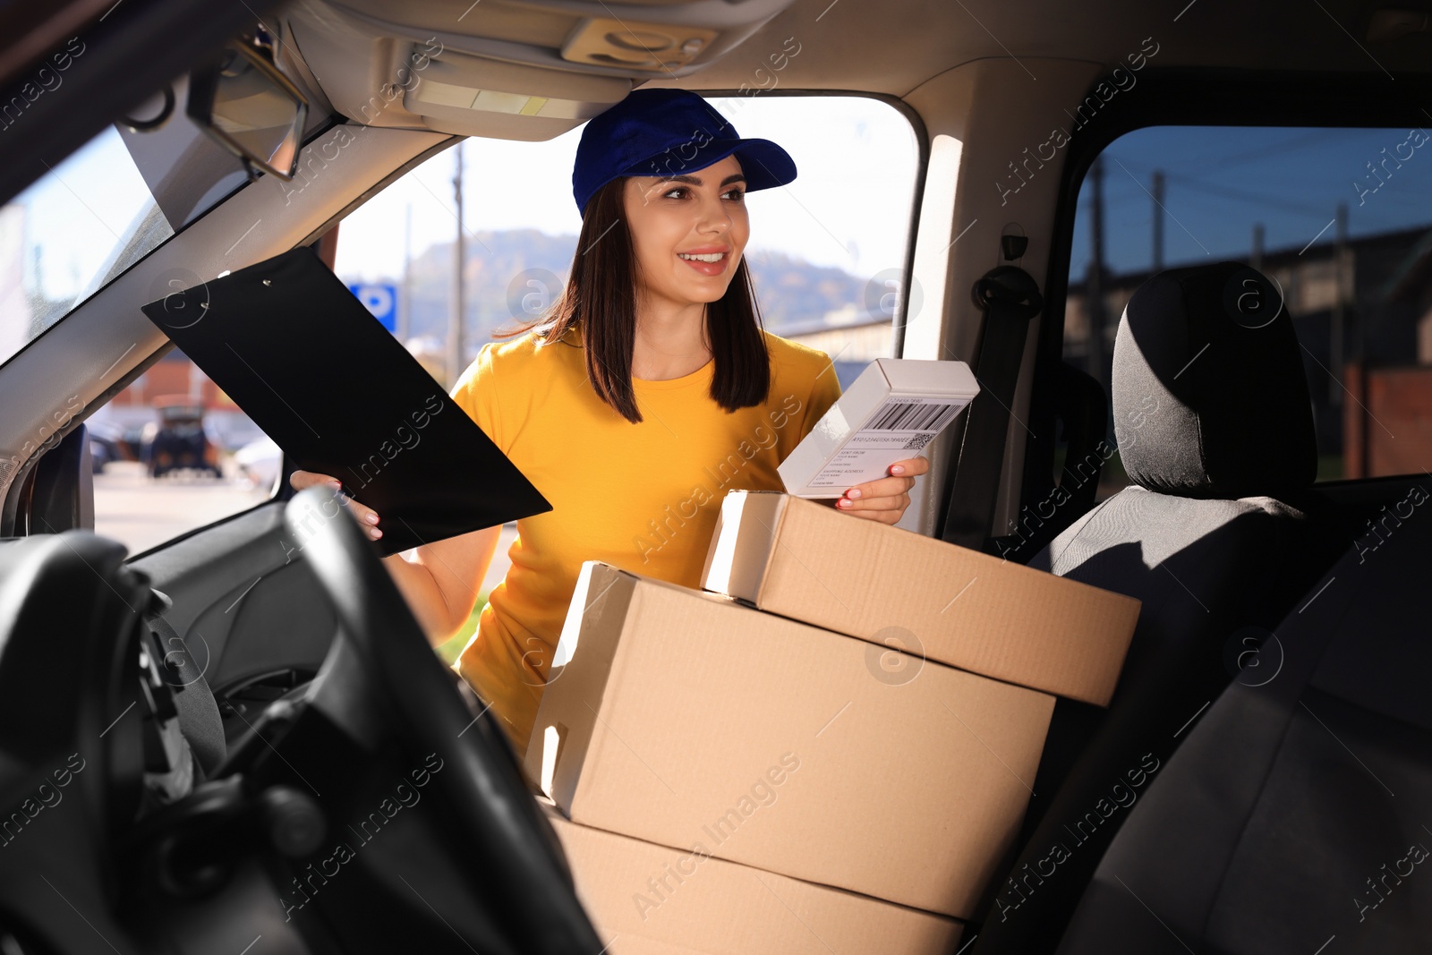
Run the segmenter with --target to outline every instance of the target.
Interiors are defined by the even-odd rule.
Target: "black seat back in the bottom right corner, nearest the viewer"
[[[1429,514],[1349,548],[1150,783],[1061,954],[1432,951],[1429,578]]]

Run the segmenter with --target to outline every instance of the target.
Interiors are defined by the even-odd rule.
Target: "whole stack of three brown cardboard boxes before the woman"
[[[586,564],[527,752],[564,845],[604,846],[570,853],[611,951],[762,951],[800,909],[736,886],[778,878],[811,951],[872,951],[839,946],[862,921],[879,951],[951,951],[1051,693],[1107,702],[1137,601],[760,493],[727,497],[706,584],[727,593]],[[674,875],[636,879],[662,852]]]

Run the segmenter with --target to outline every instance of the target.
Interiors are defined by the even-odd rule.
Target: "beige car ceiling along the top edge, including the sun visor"
[[[1429,11],[1432,0],[1395,6],[1346,0],[299,0],[286,9],[285,20],[324,96],[357,122],[550,139],[619,100],[633,84],[768,86],[770,73],[758,70],[769,67],[772,54],[789,50],[788,42],[799,44],[799,54],[783,63],[782,89],[894,97],[974,60],[1083,60],[1113,70],[1151,44],[1157,44],[1160,69],[1359,73],[1392,80],[1432,67]],[[620,24],[607,34],[617,40],[649,30],[680,37],[700,27],[707,40],[687,64],[627,69],[564,60],[563,44],[593,19]],[[395,102],[384,97],[405,57],[424,42],[432,49],[430,39],[441,53],[438,69],[422,73],[424,80],[447,83],[457,76],[451,82],[470,92],[530,94],[533,103],[548,103],[544,109],[553,116],[451,103],[430,109],[415,103],[411,92]],[[1025,72],[1038,82],[1037,70]]]

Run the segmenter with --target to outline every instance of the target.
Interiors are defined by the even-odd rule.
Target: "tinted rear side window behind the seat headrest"
[[[1080,190],[1064,359],[1107,391],[1120,315],[1150,275],[1247,262],[1282,286],[1302,345],[1317,480],[1422,471],[1432,461],[1429,137],[1156,126],[1117,139]],[[1104,471],[1100,500],[1127,484],[1117,454]]]

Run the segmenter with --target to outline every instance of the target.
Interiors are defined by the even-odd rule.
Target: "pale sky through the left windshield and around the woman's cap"
[[[869,276],[905,255],[916,143],[891,106],[849,96],[713,99],[742,136],[768,137],[795,159],[798,179],[748,198],[753,249],[776,249]],[[571,165],[581,127],[540,143],[463,143],[464,222],[470,232],[540,229],[576,235]],[[338,272],[397,276],[411,209],[412,253],[450,242],[457,231],[448,149],[369,199],[339,229]],[[27,206],[26,271],[43,248],[47,298],[84,288],[143,212],[143,179],[113,129],[97,136],[19,198]]]

